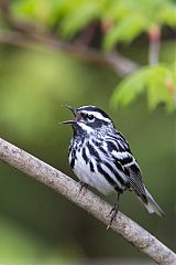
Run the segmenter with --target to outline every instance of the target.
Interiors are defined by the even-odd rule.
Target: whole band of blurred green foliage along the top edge
[[[155,24],[176,28],[176,6],[173,0],[15,0],[15,14],[48,25],[57,24],[72,38],[90,21],[100,20],[111,28],[103,40],[106,50],[118,41],[131,42]],[[58,23],[59,22],[59,23]]]

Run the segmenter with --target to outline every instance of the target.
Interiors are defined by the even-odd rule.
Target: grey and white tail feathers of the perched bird
[[[148,213],[156,213],[160,216],[164,216],[165,213],[164,211],[161,209],[161,206],[155,202],[155,200],[153,199],[153,197],[150,194],[150,192],[145,189],[145,194],[146,194],[146,201],[144,201],[141,197],[138,195],[140,202],[142,202],[142,204],[146,208],[146,210],[148,211]]]

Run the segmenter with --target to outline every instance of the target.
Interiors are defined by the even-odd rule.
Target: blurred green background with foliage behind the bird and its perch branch
[[[72,128],[58,125],[70,114],[62,105],[102,108],[130,142],[166,216],[147,214],[129,192],[120,210],[173,251],[175,40],[174,0],[0,0],[0,137],[75,178],[67,161]],[[0,262],[153,264],[1,161]]]

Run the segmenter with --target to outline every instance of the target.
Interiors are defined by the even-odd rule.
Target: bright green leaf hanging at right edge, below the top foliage
[[[168,112],[176,107],[176,81],[174,70],[164,64],[147,66],[124,78],[116,88],[111,103],[118,106],[128,106],[142,92],[147,94],[151,109],[165,104]]]

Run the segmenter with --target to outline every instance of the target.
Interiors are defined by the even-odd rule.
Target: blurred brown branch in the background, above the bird
[[[16,46],[32,46],[46,45],[57,52],[67,53],[89,63],[108,65],[112,67],[120,76],[131,74],[140,68],[140,65],[133,61],[120,56],[118,54],[103,54],[96,49],[84,45],[73,44],[59,41],[55,36],[38,33],[22,33],[18,31],[0,30],[0,43],[16,45]]]

